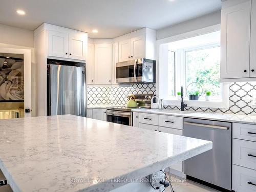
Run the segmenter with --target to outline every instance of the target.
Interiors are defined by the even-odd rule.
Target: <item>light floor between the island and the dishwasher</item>
[[[219,192],[219,190],[215,190],[194,181],[185,180],[176,176],[172,176],[171,182],[175,192]],[[165,188],[164,191],[173,192],[170,190],[170,187]]]

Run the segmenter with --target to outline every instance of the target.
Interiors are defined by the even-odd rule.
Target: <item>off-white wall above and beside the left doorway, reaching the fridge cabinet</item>
[[[32,95],[32,116],[35,116],[35,53],[33,31],[10,27],[0,24],[0,47],[31,50],[31,95]]]

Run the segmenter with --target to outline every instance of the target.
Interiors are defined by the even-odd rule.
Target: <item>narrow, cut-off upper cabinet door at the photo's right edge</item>
[[[256,0],[251,4],[251,54],[250,77],[256,77]]]

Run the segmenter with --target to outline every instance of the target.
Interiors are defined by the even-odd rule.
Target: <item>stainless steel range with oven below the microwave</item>
[[[129,95],[134,97],[137,106],[134,108],[127,106],[111,106],[106,108],[106,120],[113,123],[133,125],[133,109],[150,108],[151,99],[154,95]]]

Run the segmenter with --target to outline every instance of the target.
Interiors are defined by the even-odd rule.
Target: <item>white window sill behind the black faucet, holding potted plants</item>
[[[184,103],[187,104],[187,106],[195,106],[198,108],[221,108],[221,109],[228,109],[229,108],[229,102],[225,101],[204,101],[204,100],[198,100],[198,101],[191,101],[191,100],[184,100]],[[180,106],[181,100],[164,100],[164,105],[170,105],[170,106]]]

